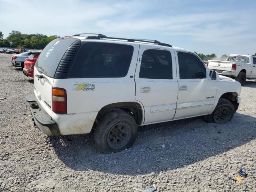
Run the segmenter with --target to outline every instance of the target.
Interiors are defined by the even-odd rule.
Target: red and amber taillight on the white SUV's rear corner
[[[57,114],[67,114],[67,93],[63,88],[52,88],[52,111]]]

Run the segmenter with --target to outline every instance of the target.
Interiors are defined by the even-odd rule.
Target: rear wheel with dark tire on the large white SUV
[[[117,110],[100,120],[94,132],[94,142],[98,152],[111,153],[130,148],[136,136],[137,124],[134,118],[123,110]]]

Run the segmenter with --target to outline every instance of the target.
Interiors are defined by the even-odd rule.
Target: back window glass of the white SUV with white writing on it
[[[58,38],[46,45],[36,61],[36,68],[38,71],[54,78],[56,68],[60,63],[61,58],[69,46],[76,40],[76,38]]]

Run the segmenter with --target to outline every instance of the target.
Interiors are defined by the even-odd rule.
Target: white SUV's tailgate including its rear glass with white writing
[[[76,38],[58,38],[50,42],[42,51],[34,68],[34,94],[44,108],[52,116],[52,85],[56,69],[66,50]]]

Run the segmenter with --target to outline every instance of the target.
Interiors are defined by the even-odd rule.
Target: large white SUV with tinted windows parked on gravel
[[[87,134],[97,150],[134,143],[137,126],[204,116],[226,123],[238,108],[240,83],[209,71],[194,53],[156,40],[66,36],[50,42],[27,96],[47,135]]]

